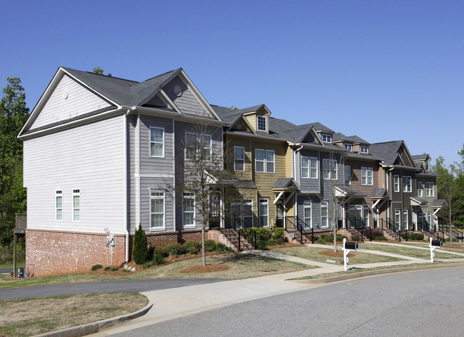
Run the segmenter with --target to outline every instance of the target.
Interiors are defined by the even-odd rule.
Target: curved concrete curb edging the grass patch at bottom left
[[[110,326],[115,326],[117,324],[125,323],[126,321],[138,318],[145,315],[153,306],[153,303],[149,303],[143,308],[135,311],[133,313],[126,313],[126,315],[117,316],[113,318],[107,318],[102,321],[96,321],[94,323],[82,324],[81,326],[72,326],[71,328],[65,328],[57,331],[51,331],[46,333],[41,333],[35,337],[80,337],[87,336],[91,333],[97,333],[102,328],[109,328]]]

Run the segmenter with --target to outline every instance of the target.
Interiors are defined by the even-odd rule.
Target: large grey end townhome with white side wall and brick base
[[[19,134],[26,264],[36,275],[119,265],[139,223],[152,244],[199,238],[195,197],[175,188],[188,176],[182,145],[222,158],[222,127],[182,69],[137,82],[60,67]]]

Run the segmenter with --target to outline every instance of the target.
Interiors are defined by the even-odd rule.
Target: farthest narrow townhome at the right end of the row
[[[417,207],[416,211],[416,231],[433,231],[438,226],[438,212],[443,207],[443,202],[437,199],[437,176],[430,165],[430,156],[428,154],[419,154],[413,156],[415,165],[420,169],[416,175],[417,195],[425,199]]]

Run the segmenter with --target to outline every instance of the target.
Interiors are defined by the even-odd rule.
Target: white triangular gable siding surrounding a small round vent
[[[65,89],[68,91],[66,99],[63,96]],[[108,102],[91,93],[69,76],[64,75],[37,116],[36,121],[32,124],[31,129],[71,119],[108,106],[110,106]]]

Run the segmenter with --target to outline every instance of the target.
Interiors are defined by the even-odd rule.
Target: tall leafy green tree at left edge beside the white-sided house
[[[29,117],[26,94],[17,77],[6,79],[0,101],[0,243],[13,237],[15,213],[26,211],[23,188],[23,144],[17,136]]]

